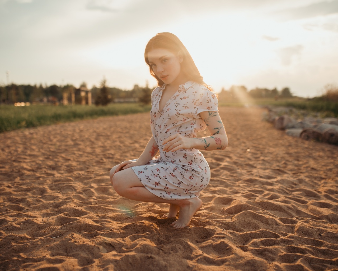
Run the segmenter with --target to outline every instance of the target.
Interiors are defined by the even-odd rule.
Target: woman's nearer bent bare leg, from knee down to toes
[[[115,191],[127,199],[177,205],[179,217],[171,224],[176,229],[188,226],[193,215],[202,207],[202,201],[198,197],[187,200],[165,200],[154,195],[143,186],[131,168],[116,172],[112,178],[112,183]]]

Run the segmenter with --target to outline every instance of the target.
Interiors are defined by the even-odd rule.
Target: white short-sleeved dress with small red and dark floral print
[[[197,132],[206,128],[199,113],[218,111],[218,101],[208,88],[188,81],[179,86],[160,111],[159,102],[165,87],[166,84],[159,86],[151,94],[150,125],[160,155],[147,165],[131,169],[156,196],[166,200],[190,199],[209,184],[209,165],[198,149],[165,152],[162,142],[176,133],[197,137]]]

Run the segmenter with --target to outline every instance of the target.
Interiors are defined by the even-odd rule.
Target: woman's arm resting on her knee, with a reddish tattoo
[[[121,164],[119,164],[114,172],[114,174],[120,170],[134,167],[134,166],[143,166],[147,164],[159,151],[159,147],[155,142],[154,137],[152,136],[150,140],[148,141],[146,147],[144,148],[144,151],[140,155],[139,159],[137,161],[131,162],[131,161],[124,161]]]

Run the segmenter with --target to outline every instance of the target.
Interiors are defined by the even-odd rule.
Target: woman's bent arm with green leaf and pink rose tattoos
[[[205,138],[187,138],[180,134],[174,134],[163,141],[164,151],[176,151],[179,149],[200,150],[224,150],[228,146],[228,138],[218,114],[218,111],[204,111],[199,113],[207,128],[212,134]]]

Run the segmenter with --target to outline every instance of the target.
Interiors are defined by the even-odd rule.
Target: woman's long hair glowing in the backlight
[[[148,52],[152,49],[159,49],[159,48],[166,49],[168,51],[171,51],[174,54],[177,54],[179,51],[181,51],[183,54],[183,62],[181,63],[181,71],[183,72],[183,74],[190,81],[204,85],[209,90],[212,90],[210,86],[204,83],[203,77],[199,74],[199,71],[195,65],[195,62],[190,56],[187,48],[183,45],[182,41],[180,41],[174,34],[169,33],[169,32],[163,32],[163,33],[156,34],[156,36],[152,37],[148,41],[146,48],[144,50],[144,60],[149,66],[150,74],[153,77],[155,77],[159,86],[162,86],[164,82],[155,75],[148,60]]]

